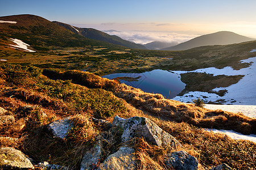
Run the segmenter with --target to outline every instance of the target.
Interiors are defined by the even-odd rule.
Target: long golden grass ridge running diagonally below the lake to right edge
[[[43,73],[50,78],[71,79],[73,83],[82,86],[113,91],[115,96],[124,99],[135,108],[143,109],[148,114],[158,116],[163,120],[188,122],[202,128],[233,129],[243,134],[255,134],[255,118],[243,114],[212,111],[193,104],[164,99],[163,95],[143,92],[138,88],[119,84],[114,80],[101,78],[88,72],[73,70],[62,73],[58,70],[46,70]]]

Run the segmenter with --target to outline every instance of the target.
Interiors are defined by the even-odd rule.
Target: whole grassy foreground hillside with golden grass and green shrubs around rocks
[[[1,106],[12,112],[16,120],[24,120],[26,125],[21,130],[1,126],[1,136],[19,140],[0,139],[0,145],[18,148],[36,162],[48,161],[79,169],[82,153],[93,147],[99,133],[107,135],[108,126],[95,124],[90,117],[112,121],[118,115],[150,118],[181,142],[184,150],[195,156],[204,168],[220,163],[237,169],[255,168],[255,143],[235,141],[226,135],[197,128],[220,125],[220,128],[255,130],[255,119],[243,114],[210,111],[167,100],[162,95],[147,94],[82,71],[59,72],[33,66],[2,65],[0,75]],[[27,105],[37,107],[26,109]],[[68,116],[73,117],[76,129],[69,133],[67,140],[48,135],[46,125],[49,122]],[[162,158],[168,150],[138,138],[133,141],[136,143],[135,154],[141,155],[138,157],[139,169],[164,169]],[[109,150],[118,147],[107,142]]]

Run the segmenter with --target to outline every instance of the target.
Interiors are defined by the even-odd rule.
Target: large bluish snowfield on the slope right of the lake
[[[198,97],[203,98],[205,102],[222,100],[225,104],[244,104],[244,105],[256,105],[256,57],[243,59],[242,63],[250,63],[249,67],[242,68],[240,70],[233,70],[232,67],[224,67],[223,69],[216,69],[209,67],[206,69],[197,69],[194,71],[173,71],[176,74],[182,73],[207,73],[216,75],[245,75],[236,84],[232,84],[229,87],[214,88],[213,91],[227,90],[224,96],[218,96],[216,94],[209,94],[208,92],[188,92],[183,96],[176,96],[173,100],[179,100],[183,102],[192,102],[193,99]]]

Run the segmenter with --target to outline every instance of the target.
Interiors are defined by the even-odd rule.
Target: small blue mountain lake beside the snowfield
[[[152,70],[144,73],[116,73],[102,76],[108,79],[119,78],[121,83],[140,88],[144,92],[162,94],[172,99],[184,88],[180,75],[166,70]]]

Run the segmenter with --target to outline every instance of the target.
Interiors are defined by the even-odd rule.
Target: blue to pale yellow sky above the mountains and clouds
[[[1,0],[0,16],[34,14],[101,31],[164,32],[188,36],[232,31],[256,38],[255,0]]]

